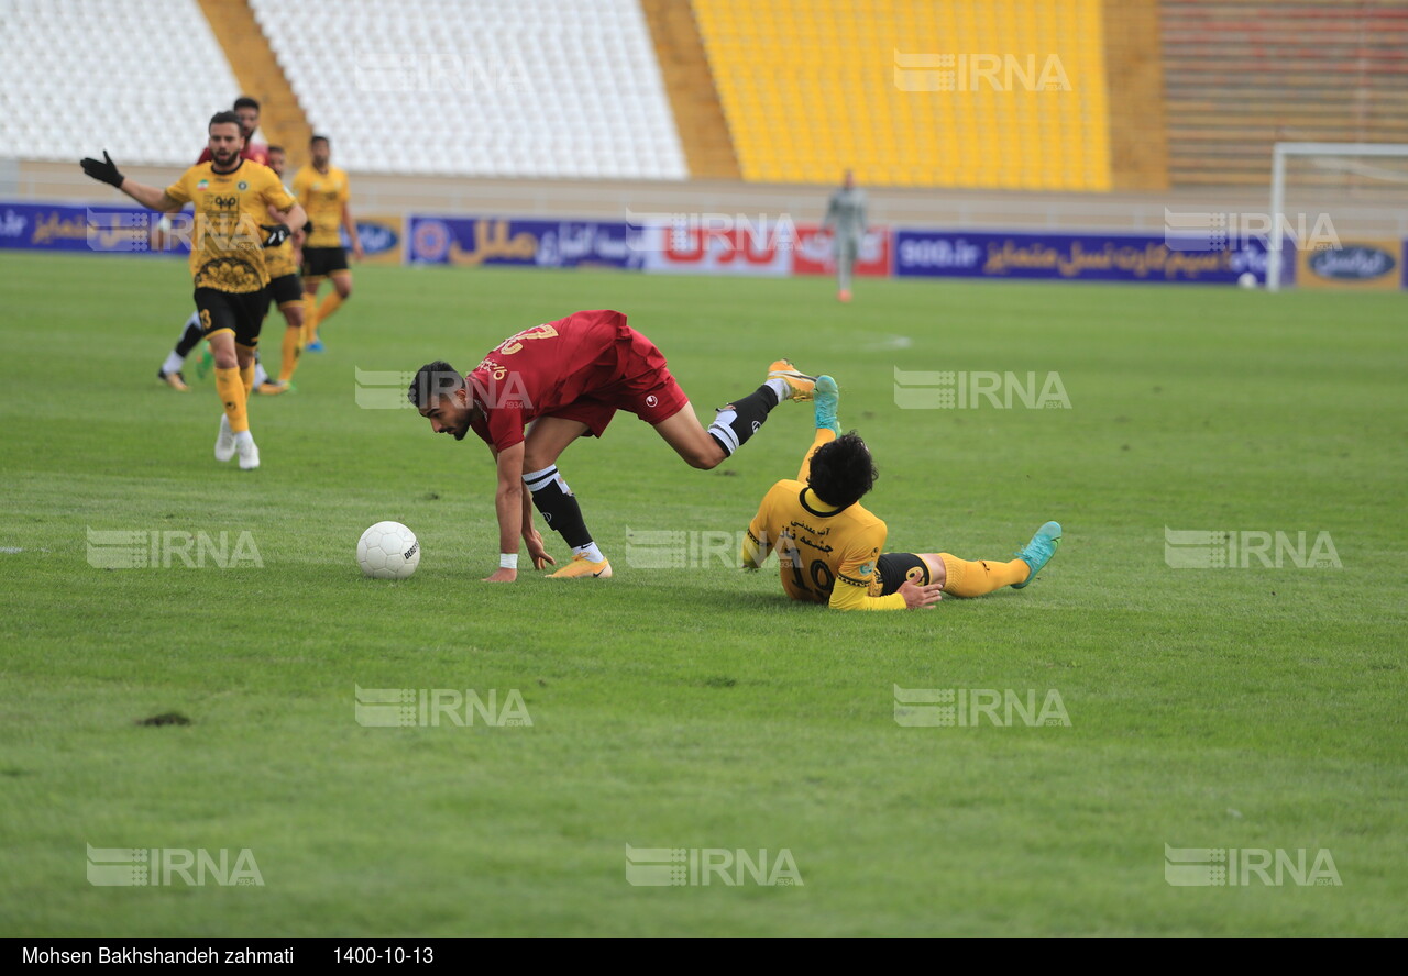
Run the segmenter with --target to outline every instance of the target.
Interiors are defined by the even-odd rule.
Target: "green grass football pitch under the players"
[[[180,262],[0,257],[0,934],[1408,931],[1402,295],[358,267],[252,404],[256,473],[213,460],[208,381],[155,378],[189,295]],[[735,533],[793,477],[783,404],[708,473],[620,415],[560,461],[617,578],[480,584],[487,453],[359,409],[353,370],[579,308],[705,416],[776,356],[835,374],[891,548],[1059,519],[1060,553],[890,615],[793,605],[776,563],[634,570],[628,530]],[[897,367],[1055,371],[1070,409],[897,409]],[[380,519],[413,579],[356,568]],[[1328,532],[1342,568],[1173,570],[1166,527]],[[248,532],[263,565],[99,570],[89,529]],[[363,727],[355,685],[517,689],[532,726]],[[1055,689],[1070,726],[905,727],[895,685]],[[191,724],[137,724],[163,712]],[[1166,844],[1324,848],[1342,885],[1170,886]],[[249,848],[263,885],[93,886],[86,845]],[[786,848],[804,883],[632,886],[627,845]]]

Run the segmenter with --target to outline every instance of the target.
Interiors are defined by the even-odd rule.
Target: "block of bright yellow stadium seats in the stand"
[[[1111,186],[1100,0],[694,0],[694,10],[748,180],[834,183],[850,166],[867,184]],[[1008,83],[1005,62],[1001,90],[973,86],[963,70],[973,62],[959,60],[1028,53],[1038,70],[1056,55],[1070,90]],[[938,70],[912,77],[929,87],[903,90],[912,58],[934,59]]]

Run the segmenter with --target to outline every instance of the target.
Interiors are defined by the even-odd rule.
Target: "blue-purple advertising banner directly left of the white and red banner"
[[[425,264],[639,269],[624,221],[411,217],[410,260]]]

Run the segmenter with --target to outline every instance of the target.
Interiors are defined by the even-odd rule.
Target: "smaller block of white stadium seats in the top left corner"
[[[186,166],[239,94],[196,0],[7,0],[4,35],[0,156]]]

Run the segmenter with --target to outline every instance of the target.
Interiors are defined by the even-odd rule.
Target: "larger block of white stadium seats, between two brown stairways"
[[[635,0],[252,0],[308,121],[370,173],[687,176]]]

